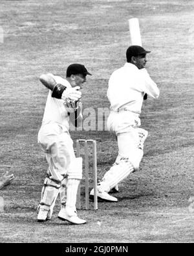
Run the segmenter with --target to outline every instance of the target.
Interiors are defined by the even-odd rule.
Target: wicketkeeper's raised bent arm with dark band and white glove
[[[79,91],[80,86],[67,88],[65,85],[57,83],[54,79],[54,75],[50,73],[41,75],[39,80],[45,87],[52,90],[52,97],[55,97],[56,99],[78,101],[81,97],[81,92]]]

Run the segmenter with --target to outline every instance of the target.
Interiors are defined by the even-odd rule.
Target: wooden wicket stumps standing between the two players
[[[98,210],[98,198],[97,198],[97,155],[96,155],[96,140],[76,140],[76,156],[81,155],[81,145],[84,146],[84,170],[85,170],[85,209],[89,209],[89,148],[88,145],[92,145],[92,167],[93,167],[93,188],[94,188],[94,210]],[[77,209],[81,209],[81,186],[78,187],[77,194]]]

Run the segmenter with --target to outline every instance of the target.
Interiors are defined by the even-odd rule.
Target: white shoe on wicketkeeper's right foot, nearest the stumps
[[[85,224],[86,220],[80,219],[76,211],[70,212],[66,208],[61,208],[58,214],[60,220],[67,220],[68,222],[76,225]]]

